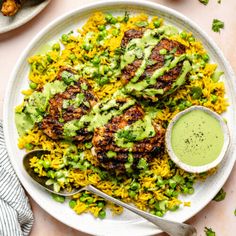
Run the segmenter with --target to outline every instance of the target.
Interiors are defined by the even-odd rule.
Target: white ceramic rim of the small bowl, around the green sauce
[[[219,124],[222,128],[223,134],[224,134],[224,143],[223,143],[223,147],[221,149],[221,152],[219,154],[219,156],[212,162],[205,164],[205,165],[201,165],[201,166],[191,166],[188,165],[184,162],[182,162],[174,153],[173,148],[172,148],[172,144],[171,144],[171,134],[172,134],[172,128],[175,125],[175,123],[186,113],[189,113],[193,110],[201,110],[204,111],[206,113],[208,113],[209,115],[211,115],[212,117],[214,117],[215,119],[217,119],[219,121]],[[214,167],[216,167],[224,158],[225,153],[227,152],[227,149],[229,147],[229,143],[230,143],[230,135],[229,135],[229,130],[228,127],[225,123],[225,121],[223,120],[223,118],[218,115],[216,112],[203,107],[203,106],[192,106],[180,113],[178,113],[169,123],[168,127],[167,127],[167,131],[166,131],[166,135],[165,135],[165,142],[166,142],[166,149],[167,152],[171,158],[172,161],[175,162],[175,164],[177,166],[179,166],[181,169],[187,171],[187,172],[191,172],[191,173],[201,173],[201,172],[205,172],[207,170],[210,170]]]

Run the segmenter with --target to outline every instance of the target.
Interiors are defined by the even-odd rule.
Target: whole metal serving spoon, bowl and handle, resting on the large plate
[[[133,207],[129,204],[126,204],[120,200],[117,200],[116,198],[113,198],[113,197],[107,195],[106,193],[98,190],[97,188],[95,188],[92,185],[87,185],[87,186],[80,188],[80,189],[73,189],[72,192],[67,192],[66,190],[60,191],[58,193],[55,192],[53,190],[52,186],[47,186],[45,184],[45,182],[47,181],[47,178],[37,176],[37,174],[33,171],[32,168],[30,168],[30,165],[29,165],[29,163],[30,163],[29,161],[32,157],[37,156],[38,158],[40,158],[43,154],[50,154],[50,151],[39,149],[39,150],[33,150],[31,152],[28,152],[23,158],[23,165],[24,165],[26,172],[30,175],[30,177],[36,183],[38,183],[41,187],[46,189],[47,191],[55,193],[60,196],[64,196],[64,197],[72,196],[72,195],[79,193],[81,191],[89,191],[91,193],[94,193],[94,194],[96,194],[108,201],[115,203],[118,206],[122,206],[122,207],[132,211],[133,213],[145,218],[146,220],[148,220],[151,223],[153,223],[154,225],[158,226],[161,230],[168,233],[169,235],[172,235],[172,236],[197,236],[196,229],[191,225],[166,220],[166,219],[160,218],[158,216],[154,216],[154,215],[147,213],[145,211],[139,210],[136,207]]]

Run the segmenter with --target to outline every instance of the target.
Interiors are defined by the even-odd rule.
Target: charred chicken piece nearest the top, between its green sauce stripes
[[[121,46],[127,45],[127,42],[132,40],[133,38],[139,38],[142,37],[143,31],[140,31],[139,33],[137,30],[129,30],[125,32],[124,38],[122,40]],[[140,76],[139,80],[136,82],[140,82],[142,80],[145,80],[147,78],[150,78],[153,73],[157,70],[162,68],[165,65],[166,62],[166,55],[162,55],[160,53],[160,50],[165,49],[166,55],[172,55],[172,56],[180,56],[185,53],[185,46],[181,43],[170,40],[167,38],[162,38],[160,42],[153,48],[151,55],[149,57],[149,61],[151,62],[149,65],[146,66],[144,73]],[[130,82],[130,80],[135,76],[136,71],[141,66],[142,59],[136,59],[131,64],[127,65],[124,69],[122,69],[122,76],[121,80],[124,84],[127,84]],[[148,93],[146,93],[146,89],[163,89],[163,94],[168,92],[171,88],[173,83],[177,80],[177,78],[180,76],[181,71],[183,67],[183,62],[179,62],[174,68],[170,69],[169,71],[165,72],[163,76],[160,76],[157,79],[157,82],[155,85],[149,85],[146,87],[142,92],[135,93],[135,91],[131,90],[130,93],[133,96],[142,97],[142,98],[150,98],[153,101],[156,101],[156,96],[160,96],[159,94],[154,95],[152,97]],[[134,89],[135,90],[135,89]]]

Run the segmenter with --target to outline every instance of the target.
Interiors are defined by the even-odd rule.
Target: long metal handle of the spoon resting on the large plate
[[[133,213],[145,218],[146,220],[152,222],[154,225],[158,226],[161,230],[168,233],[169,235],[172,235],[172,236],[196,236],[197,235],[196,229],[191,225],[179,223],[179,222],[174,222],[174,221],[170,221],[170,220],[165,220],[163,218],[160,218],[160,217],[154,216],[152,214],[149,214],[147,212],[144,212],[142,210],[139,210],[136,207],[133,207],[129,204],[126,204],[116,198],[113,198],[113,197],[107,195],[106,193],[98,190],[97,188],[93,187],[92,185],[88,185],[86,187],[86,190],[88,190],[88,191],[108,200],[108,201],[111,201],[111,202],[115,203],[116,205],[122,206],[122,207],[132,211]]]

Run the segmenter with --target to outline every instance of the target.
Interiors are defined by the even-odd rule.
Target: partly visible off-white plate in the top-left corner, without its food
[[[30,0],[23,4],[15,16],[3,16],[0,12],[0,34],[16,29],[38,15],[51,0]]]

